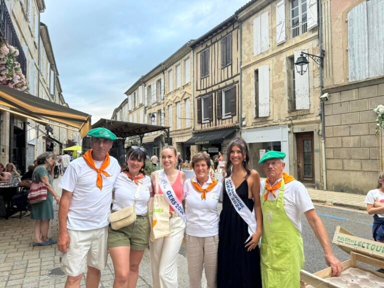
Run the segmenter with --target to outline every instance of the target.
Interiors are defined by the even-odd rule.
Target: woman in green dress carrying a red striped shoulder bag
[[[53,167],[55,164],[56,156],[53,152],[44,152],[37,156],[38,166],[34,168],[32,173],[32,180],[42,182],[48,191],[46,195],[46,200],[32,204],[31,219],[35,220],[34,222],[34,240],[33,246],[46,246],[50,244],[57,243],[53,238],[48,237],[49,230],[49,221],[53,219],[53,198],[58,204],[60,197],[57,195],[56,191],[53,189]],[[50,174],[48,173],[48,168],[50,169]]]

